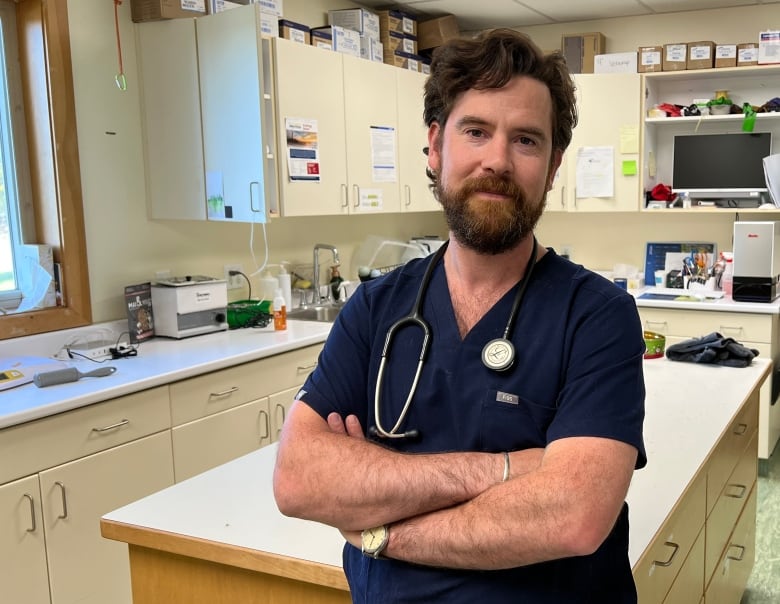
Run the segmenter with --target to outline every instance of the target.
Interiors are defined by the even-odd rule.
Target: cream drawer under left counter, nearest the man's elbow
[[[320,350],[322,344],[307,346],[171,384],[173,425],[219,413],[303,383],[317,365]]]

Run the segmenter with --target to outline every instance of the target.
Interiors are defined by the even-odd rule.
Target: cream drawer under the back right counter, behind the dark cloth
[[[698,338],[713,331],[738,342],[772,342],[774,315],[709,310],[639,308],[645,329],[669,336]]]

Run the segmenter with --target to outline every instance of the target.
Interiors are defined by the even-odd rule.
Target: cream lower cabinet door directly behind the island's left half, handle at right
[[[271,444],[268,399],[252,401],[173,429],[176,482]]]

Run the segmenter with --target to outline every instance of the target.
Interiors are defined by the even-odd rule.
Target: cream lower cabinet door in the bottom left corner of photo
[[[38,476],[0,487],[0,577],[4,602],[49,603]]]

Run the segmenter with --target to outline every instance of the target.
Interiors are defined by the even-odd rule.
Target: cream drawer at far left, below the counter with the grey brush
[[[0,484],[166,430],[169,409],[161,386],[4,428]]]

